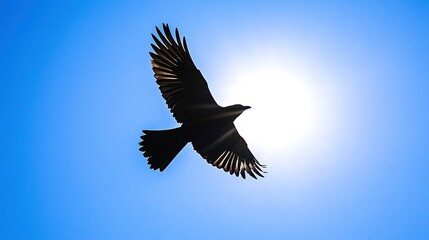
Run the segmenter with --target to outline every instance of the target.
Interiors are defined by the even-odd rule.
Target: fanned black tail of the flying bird
[[[140,137],[140,151],[148,158],[150,168],[161,172],[188,143],[187,136],[180,127],[158,131],[143,130],[143,133]]]

